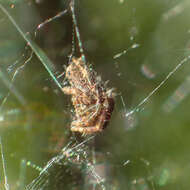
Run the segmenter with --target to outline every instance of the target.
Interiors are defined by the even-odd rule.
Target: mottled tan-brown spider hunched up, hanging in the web
[[[100,76],[80,58],[72,58],[66,68],[70,86],[62,90],[72,96],[75,116],[71,131],[92,134],[102,131],[114,109],[114,89],[108,89]]]

